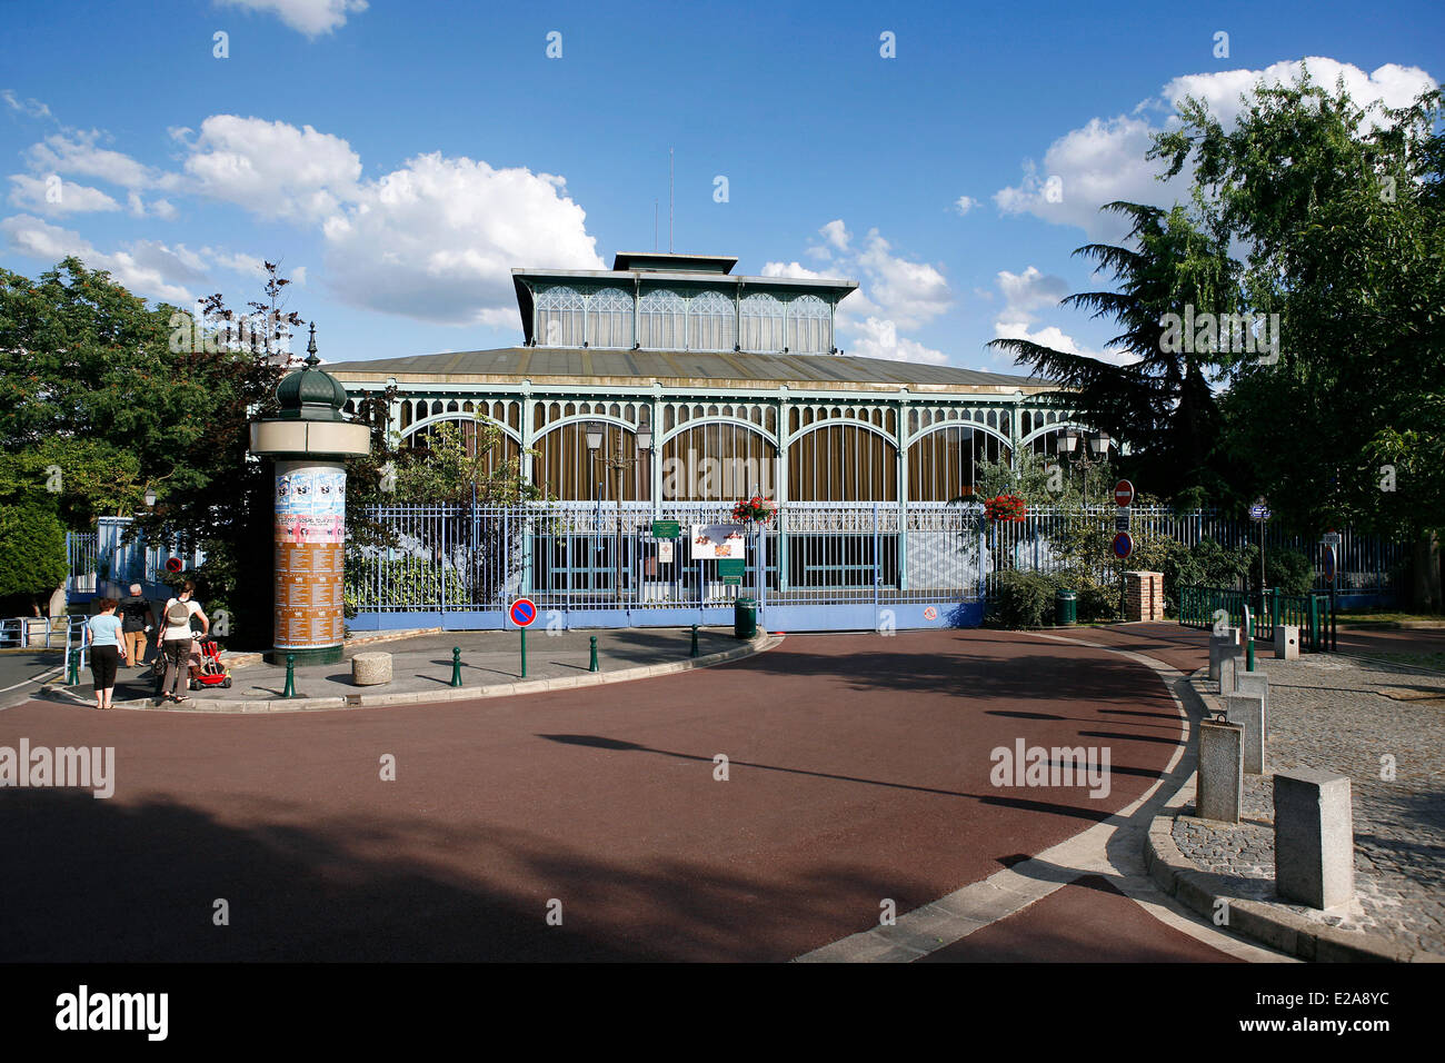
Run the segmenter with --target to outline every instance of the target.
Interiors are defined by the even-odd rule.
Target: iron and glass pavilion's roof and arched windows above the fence
[[[493,460],[522,456],[556,499],[611,496],[587,445],[629,461],[623,500],[946,502],[980,460],[1053,451],[1069,427],[1049,382],[840,351],[835,318],[853,281],[738,276],[736,257],[620,253],[610,270],[514,269],[523,344],[344,362],[327,369],[354,408],[397,398],[403,443],[474,418],[501,430]]]

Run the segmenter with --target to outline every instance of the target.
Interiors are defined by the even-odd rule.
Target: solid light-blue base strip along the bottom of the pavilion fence
[[[767,631],[918,631],[977,628],[983,602],[907,602],[894,605],[764,606],[759,626]],[[565,631],[607,628],[733,626],[733,607],[709,609],[542,609],[533,631],[561,622]],[[501,612],[358,613],[347,620],[357,633],[444,628],[445,631],[516,631]]]

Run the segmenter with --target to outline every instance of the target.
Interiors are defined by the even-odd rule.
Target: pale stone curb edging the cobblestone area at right
[[[1191,717],[1198,720],[1218,712],[1215,699],[1199,690],[1208,675],[1201,668],[1181,684],[1186,691]],[[1222,910],[1225,926],[1244,936],[1277,949],[1289,956],[1316,963],[1410,963],[1442,962],[1445,957],[1433,953],[1406,949],[1376,934],[1321,926],[1302,915],[1269,901],[1254,901],[1231,897],[1230,879],[1201,871],[1199,866],[1179,852],[1173,840],[1173,823],[1194,801],[1198,774],[1191,772],[1179,790],[1169,798],[1165,810],[1156,816],[1144,836],[1144,866],[1166,894],[1205,918],[1214,920]]]

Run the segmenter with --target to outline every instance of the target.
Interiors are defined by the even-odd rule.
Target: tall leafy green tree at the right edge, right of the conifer
[[[1302,529],[1413,538],[1416,607],[1439,607],[1439,90],[1405,108],[1361,107],[1342,84],[1328,91],[1306,71],[1289,85],[1257,85],[1228,129],[1202,101],[1179,110],[1181,124],[1150,155],[1170,175],[1192,166],[1199,224],[1248,249],[1246,302],[1283,323],[1277,363],[1231,366],[1222,404],[1248,493],[1267,493]]]

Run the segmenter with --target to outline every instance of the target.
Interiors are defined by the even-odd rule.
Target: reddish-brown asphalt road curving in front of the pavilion
[[[1079,638],[1205,659],[1205,633],[1173,625]],[[795,635],[699,673],[435,706],[29,701],[0,712],[0,745],[22,736],[114,746],[118,781],[110,800],[0,790],[23,855],[0,876],[3,960],[782,960],[877,926],[884,898],[906,913],[1079,833],[1183,732],[1157,675],[1117,654],[944,631]],[[1108,797],[996,788],[990,751],[1016,739],[1107,746]],[[1030,915],[1078,891],[1098,894],[1013,917],[1042,934],[1020,959],[1094,957],[1072,931],[1051,953]],[[1111,902],[1130,928],[1110,957],[1224,959]]]

